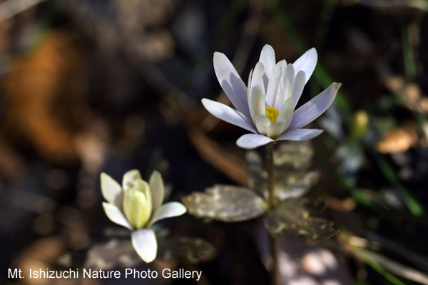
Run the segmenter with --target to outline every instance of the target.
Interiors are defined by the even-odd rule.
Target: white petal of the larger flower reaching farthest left
[[[220,120],[224,120],[233,125],[238,125],[238,127],[249,130],[250,132],[257,133],[257,130],[255,130],[250,119],[248,119],[243,113],[230,108],[228,105],[206,98],[202,99],[202,104],[215,118],[219,118]]]

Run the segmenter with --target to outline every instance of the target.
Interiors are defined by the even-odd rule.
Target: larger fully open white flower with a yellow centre
[[[255,68],[250,71],[245,86],[229,59],[214,53],[214,71],[220,86],[236,110],[228,105],[202,99],[205,108],[220,120],[225,120],[252,134],[237,140],[239,147],[251,149],[274,140],[309,140],[322,130],[303,129],[330,107],[340,83],[332,83],[315,98],[297,110],[295,106],[317,63],[317,51],[311,48],[295,63],[275,62],[275,51],[265,45]]]

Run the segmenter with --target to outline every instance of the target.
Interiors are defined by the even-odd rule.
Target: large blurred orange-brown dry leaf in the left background
[[[82,58],[65,33],[16,59],[4,81],[5,127],[56,162],[76,160],[73,136],[88,118]]]

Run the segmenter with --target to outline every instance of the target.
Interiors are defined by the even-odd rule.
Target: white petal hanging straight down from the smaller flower
[[[156,259],[158,242],[153,229],[138,229],[131,234],[132,246],[146,263]]]

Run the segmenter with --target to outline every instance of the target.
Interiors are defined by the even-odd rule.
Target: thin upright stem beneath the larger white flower
[[[266,145],[266,171],[267,171],[267,203],[269,208],[275,206],[275,193],[273,181],[273,144],[270,142]],[[272,270],[270,272],[270,280],[272,285],[279,285],[280,274],[278,268],[278,253],[280,252],[280,241],[277,237],[270,236],[270,249],[272,252]]]

